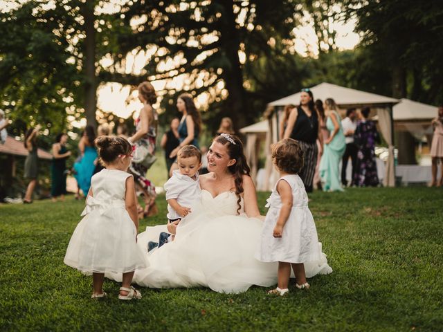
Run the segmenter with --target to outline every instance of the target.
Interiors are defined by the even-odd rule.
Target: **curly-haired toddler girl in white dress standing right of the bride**
[[[305,185],[297,175],[303,165],[301,146],[291,138],[281,140],[273,145],[272,158],[280,178],[266,205],[269,211],[255,257],[265,262],[278,261],[278,287],[269,293],[284,295],[289,292],[291,266],[296,287],[309,288],[303,263],[320,260],[321,247],[307,206]]]

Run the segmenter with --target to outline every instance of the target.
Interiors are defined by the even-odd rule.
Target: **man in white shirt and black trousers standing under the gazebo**
[[[357,127],[356,122],[356,110],[355,109],[347,109],[346,111],[346,118],[341,120],[341,127],[343,127],[343,133],[345,134],[345,142],[346,142],[346,149],[345,154],[343,154],[343,158],[341,160],[341,183],[344,187],[347,186],[347,179],[346,179],[346,168],[347,168],[347,162],[349,158],[351,158],[351,165],[352,165],[352,177],[351,177],[351,186],[354,185],[354,178],[355,178],[355,170],[356,170],[356,163],[357,163],[357,152],[359,149],[354,144],[354,133],[355,129]]]

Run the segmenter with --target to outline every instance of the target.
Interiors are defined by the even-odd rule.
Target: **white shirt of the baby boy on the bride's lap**
[[[195,174],[195,180],[187,175],[183,175],[179,170],[172,173],[171,178],[166,181],[165,185],[166,200],[177,199],[177,203],[186,208],[192,208],[192,203],[200,198],[201,188],[199,181],[199,172]],[[182,218],[168,204],[168,219]]]

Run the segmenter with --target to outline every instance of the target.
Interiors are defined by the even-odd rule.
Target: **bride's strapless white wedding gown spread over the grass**
[[[136,270],[133,282],[150,288],[204,286],[219,293],[241,293],[252,285],[276,284],[278,264],[254,258],[263,222],[248,218],[243,205],[237,215],[237,208],[235,192],[213,197],[202,190],[199,203],[179,223],[175,241],[149,253],[147,242],[158,241],[159,233],[167,230],[165,225],[147,227],[138,234],[138,246],[149,266]],[[318,261],[305,264],[305,270],[307,277],[332,272],[323,253]],[[121,275],[107,277],[121,280]]]

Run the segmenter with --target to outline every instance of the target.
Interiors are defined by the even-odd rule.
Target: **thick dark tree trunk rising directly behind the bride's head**
[[[222,49],[226,53],[229,66],[224,68],[223,78],[228,90],[228,100],[226,100],[226,115],[229,116],[236,129],[242,128],[253,120],[249,110],[246,109],[246,95],[243,87],[242,65],[238,57],[239,36],[235,28],[235,15],[233,12],[233,1],[221,0],[219,2],[224,7],[225,20],[223,32],[221,33]]]

